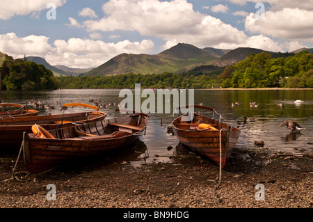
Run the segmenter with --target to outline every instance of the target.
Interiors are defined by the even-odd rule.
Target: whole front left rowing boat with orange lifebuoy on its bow
[[[128,146],[145,134],[147,118],[144,113],[135,113],[51,129],[49,132],[41,132],[45,134],[42,136],[44,138],[39,137],[38,129],[34,126],[34,134],[25,132],[22,143],[26,168],[30,173],[42,173],[81,157]]]

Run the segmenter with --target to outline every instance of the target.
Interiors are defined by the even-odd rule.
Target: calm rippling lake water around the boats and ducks
[[[118,103],[125,99],[119,97],[120,90],[41,90],[41,91],[4,91],[2,102],[29,104],[30,101],[42,101],[44,104],[56,106],[53,113],[62,113],[60,104],[81,102],[93,104],[90,100],[101,100],[102,104],[115,103],[101,109],[108,113],[108,118],[118,115],[115,109]],[[155,91],[157,97],[157,91]],[[282,152],[298,152],[300,149],[312,150],[313,145],[313,90],[194,90],[195,104],[200,102],[209,106],[222,115],[222,121],[231,125],[243,122],[243,117],[254,118],[255,122],[248,122],[241,129],[238,147],[254,147],[254,141],[264,141],[264,148],[280,150]],[[141,102],[146,100],[142,98]],[[249,102],[257,102],[257,108],[250,108]],[[303,104],[294,101],[303,100]],[[241,102],[239,106],[231,106],[232,102]],[[283,102],[282,107],[278,106]],[[165,101],[165,104],[170,103]],[[157,104],[157,103],[156,103]],[[172,107],[172,106],[171,106]],[[45,115],[45,109],[38,109],[40,115]],[[75,107],[65,112],[86,111],[85,108]],[[172,112],[172,109],[171,109]],[[205,113],[205,111],[201,111]],[[211,113],[205,113],[211,116]],[[161,125],[161,118],[163,125]],[[168,162],[175,152],[178,141],[175,136],[166,133],[172,121],[172,113],[150,113],[147,125],[147,134],[141,137],[140,145],[145,152],[140,156],[130,159],[131,163],[141,164],[146,162]],[[305,128],[300,134],[291,133],[286,127],[278,127],[284,120],[291,119]],[[138,143],[136,143],[138,145]],[[168,150],[168,145],[174,149]],[[126,158],[126,157],[125,157]],[[126,159],[129,161],[129,159]]]

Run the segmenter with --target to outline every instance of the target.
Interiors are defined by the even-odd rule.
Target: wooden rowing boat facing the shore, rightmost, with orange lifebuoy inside
[[[177,109],[191,107],[216,113],[215,109],[200,105],[182,106]],[[179,116],[172,121],[172,130],[175,136],[184,145],[208,157],[216,164],[221,164],[221,167],[224,168],[232,149],[236,146],[239,139],[240,130],[220,122],[220,120],[203,116],[200,113],[192,114],[193,118],[190,121],[182,120],[182,117],[187,116],[187,114]],[[218,115],[220,116],[220,114]]]

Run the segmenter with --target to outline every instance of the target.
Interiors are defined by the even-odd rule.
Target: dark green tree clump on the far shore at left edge
[[[14,60],[6,56],[1,68],[2,87],[8,90],[56,89],[61,81],[54,77],[51,70],[26,58]]]

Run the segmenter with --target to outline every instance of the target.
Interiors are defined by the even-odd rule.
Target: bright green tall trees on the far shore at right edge
[[[278,58],[265,52],[251,54],[225,68],[216,80],[223,88],[312,88],[313,54],[301,51]]]

